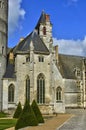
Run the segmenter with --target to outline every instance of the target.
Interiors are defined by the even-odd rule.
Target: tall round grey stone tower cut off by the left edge
[[[3,75],[6,71],[8,41],[8,0],[0,0],[0,110],[2,110]]]

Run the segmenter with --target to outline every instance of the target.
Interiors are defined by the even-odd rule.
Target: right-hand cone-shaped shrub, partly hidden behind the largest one
[[[43,116],[42,116],[42,114],[40,112],[40,109],[39,109],[39,107],[38,107],[35,100],[33,100],[31,107],[32,107],[32,109],[33,109],[33,111],[35,113],[35,116],[36,116],[36,118],[38,120],[38,123],[44,123]]]

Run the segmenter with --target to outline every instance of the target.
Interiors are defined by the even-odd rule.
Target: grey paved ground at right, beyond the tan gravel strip
[[[67,113],[75,114],[75,116],[56,130],[86,130],[86,110],[71,109]]]

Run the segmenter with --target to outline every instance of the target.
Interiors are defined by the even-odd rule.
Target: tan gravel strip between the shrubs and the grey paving
[[[57,127],[61,126],[65,121],[71,118],[71,114],[58,114],[57,116],[48,119],[44,124],[35,127],[26,127],[20,130],[56,130]],[[7,130],[15,130],[10,128]]]

